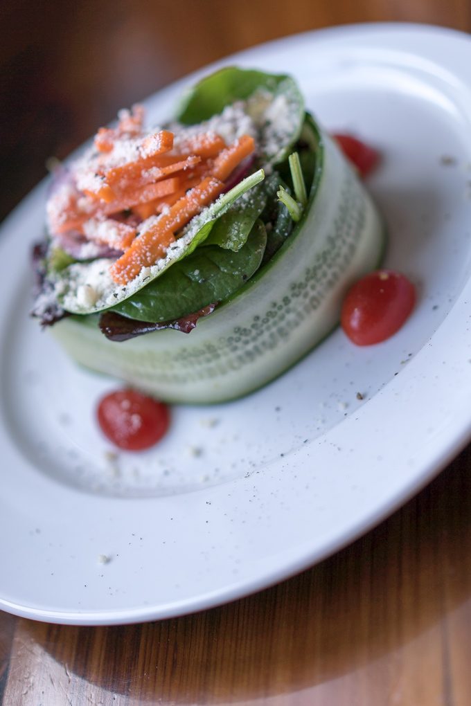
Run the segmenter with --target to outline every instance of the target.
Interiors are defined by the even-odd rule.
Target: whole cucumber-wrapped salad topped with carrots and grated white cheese
[[[295,81],[224,68],[173,121],[121,111],[59,170],[33,314],[83,366],[161,400],[222,402],[335,328],[383,240]]]

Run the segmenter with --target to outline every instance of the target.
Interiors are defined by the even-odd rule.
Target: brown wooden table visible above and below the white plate
[[[386,0],[5,6],[0,150],[10,189],[2,190],[1,214],[42,177],[48,155],[64,156],[121,105],[229,52],[357,21],[471,30],[467,0],[396,7]],[[227,606],[113,628],[1,613],[0,702],[467,706],[470,467],[468,447],[352,546]]]

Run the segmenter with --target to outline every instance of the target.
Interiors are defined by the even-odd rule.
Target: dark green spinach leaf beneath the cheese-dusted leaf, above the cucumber
[[[260,267],[266,239],[266,229],[257,221],[238,252],[215,245],[198,248],[112,311],[138,321],[171,321],[225,301]]]

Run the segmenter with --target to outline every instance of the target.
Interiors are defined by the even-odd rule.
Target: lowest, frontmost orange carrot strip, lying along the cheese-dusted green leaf
[[[126,285],[143,267],[153,265],[162,257],[162,242],[166,241],[168,234],[174,234],[184,227],[206,204],[214,201],[223,189],[224,184],[219,179],[206,177],[186,193],[113,263],[109,270],[113,280],[119,285]]]

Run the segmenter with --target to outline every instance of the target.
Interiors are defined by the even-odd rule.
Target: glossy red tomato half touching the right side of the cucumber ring
[[[378,270],[359,280],[342,305],[342,328],[358,346],[386,340],[403,325],[415,304],[415,287],[407,277]]]

